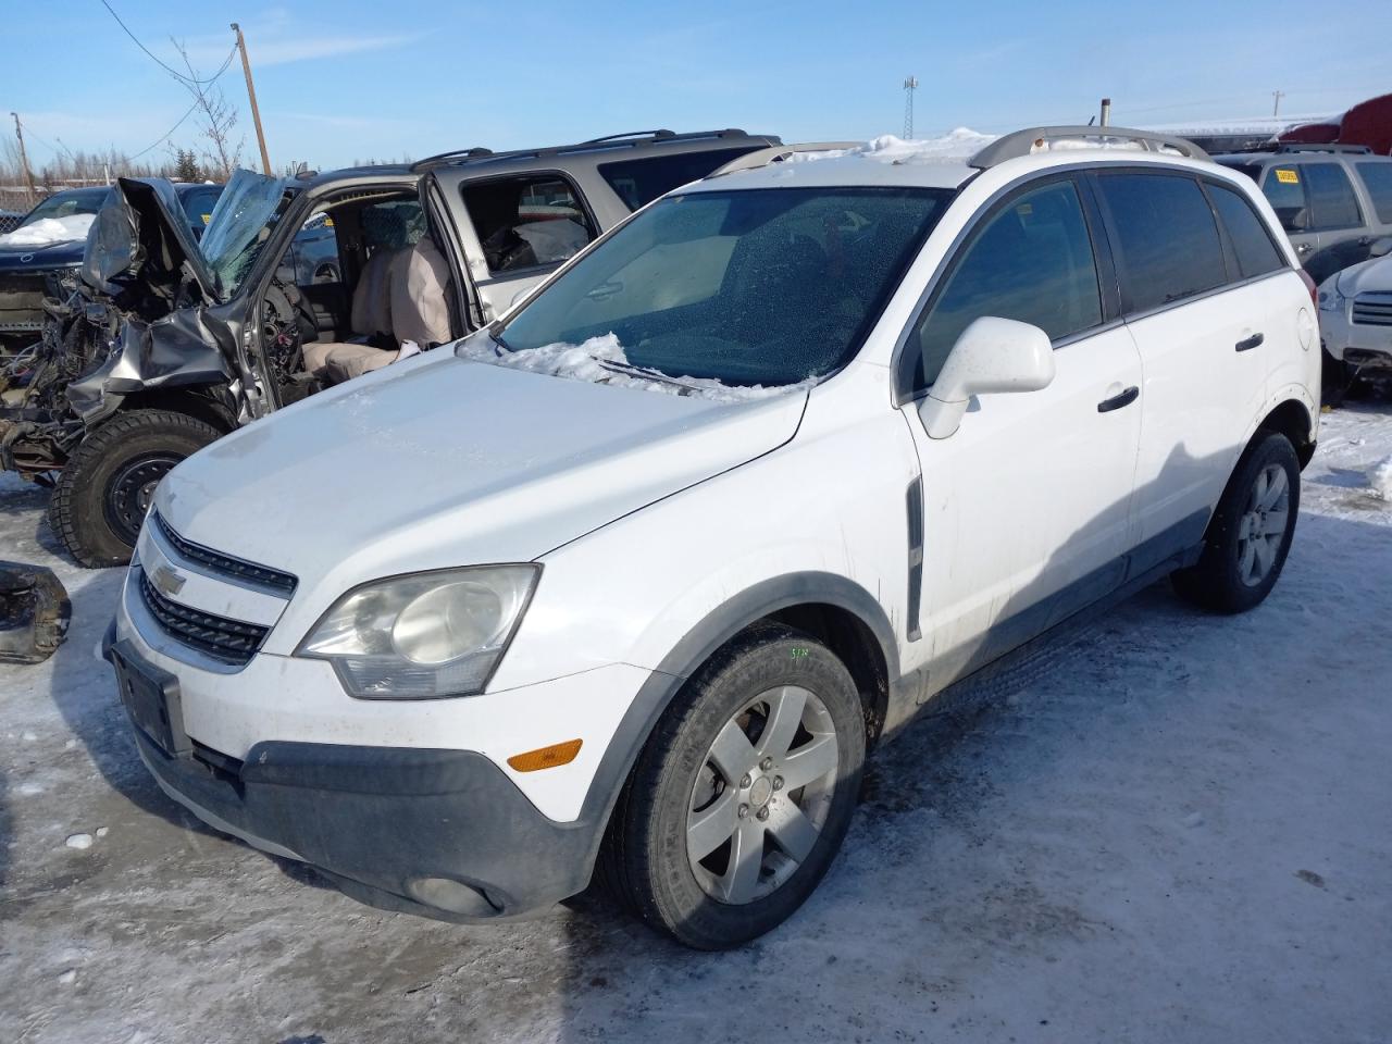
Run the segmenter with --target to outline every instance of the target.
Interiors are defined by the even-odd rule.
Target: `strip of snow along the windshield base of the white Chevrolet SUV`
[[[516,352],[503,348],[487,333],[479,333],[459,341],[454,354],[461,359],[508,366],[529,373],[547,373],[553,377],[610,384],[618,388],[661,391],[668,395],[692,395],[714,402],[748,402],[773,395],[786,395],[793,391],[806,391],[817,383],[816,379],[807,379],[796,384],[766,387],[763,384],[725,384],[713,377],[670,377],[665,373],[633,366],[624,355],[624,347],[618,342],[618,337],[611,333],[592,337],[582,344],[546,344],[540,348],[523,348]]]

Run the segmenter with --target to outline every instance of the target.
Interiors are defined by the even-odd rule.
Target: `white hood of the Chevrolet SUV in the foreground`
[[[400,572],[537,558],[786,443],[805,405],[802,388],[722,404],[436,351],[219,440],[155,504],[185,539],[329,600]]]

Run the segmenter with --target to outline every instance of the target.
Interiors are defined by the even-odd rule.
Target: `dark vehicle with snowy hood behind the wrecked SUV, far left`
[[[195,235],[221,191],[202,182],[174,185]],[[43,330],[49,281],[75,281],[88,227],[110,195],[106,185],[54,192],[25,214],[14,234],[0,235],[0,335],[32,338]]]

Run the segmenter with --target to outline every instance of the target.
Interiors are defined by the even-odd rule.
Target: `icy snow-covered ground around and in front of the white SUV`
[[[1392,1040],[1392,408],[1324,419],[1256,612],[1157,586],[880,750],[846,852],[745,951],[599,901],[380,913],[161,796],[96,644],[118,571],[0,480],[68,643],[0,668],[0,1041]],[[291,695],[288,695],[291,697]]]

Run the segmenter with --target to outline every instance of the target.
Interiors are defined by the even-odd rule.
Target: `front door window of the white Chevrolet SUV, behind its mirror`
[[[937,380],[952,345],[981,316],[1015,319],[1059,340],[1102,322],[1093,242],[1072,181],[1006,203],[970,239],[910,338],[913,390]]]

